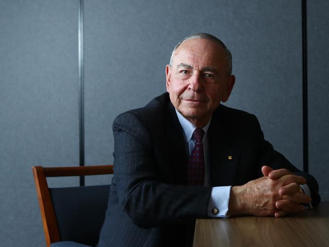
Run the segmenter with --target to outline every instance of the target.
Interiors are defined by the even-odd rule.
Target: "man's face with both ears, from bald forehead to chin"
[[[204,38],[190,39],[178,47],[166,67],[170,100],[196,127],[210,120],[221,101],[228,100],[234,75],[228,75],[226,51]]]

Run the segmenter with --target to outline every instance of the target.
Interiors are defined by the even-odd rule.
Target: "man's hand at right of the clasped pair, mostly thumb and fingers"
[[[278,211],[274,214],[276,218],[286,216],[289,213],[301,212],[304,210],[304,206],[300,203],[309,203],[311,201],[310,196],[301,193],[300,185],[298,183],[289,182],[289,180],[292,179],[292,176],[296,176],[289,170],[273,170],[268,166],[263,166],[262,173],[265,177],[268,176],[272,180],[276,180],[281,177],[285,177],[287,180],[287,184],[282,186],[279,190],[282,199],[276,201],[275,203],[275,207],[278,209]]]

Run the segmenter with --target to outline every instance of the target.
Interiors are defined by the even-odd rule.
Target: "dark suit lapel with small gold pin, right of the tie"
[[[233,185],[240,153],[234,141],[231,119],[225,114],[225,106],[220,105],[214,112],[208,137],[211,185]]]

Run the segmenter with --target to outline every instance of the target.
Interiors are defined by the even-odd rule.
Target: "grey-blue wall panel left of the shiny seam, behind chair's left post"
[[[31,166],[78,164],[77,1],[1,1],[0,32],[0,245],[45,246]]]

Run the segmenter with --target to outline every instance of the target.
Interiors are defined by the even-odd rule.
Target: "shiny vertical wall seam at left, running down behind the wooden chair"
[[[79,166],[85,166],[85,107],[84,107],[84,1],[78,3],[78,60],[79,60]],[[80,186],[85,177],[80,176]]]

